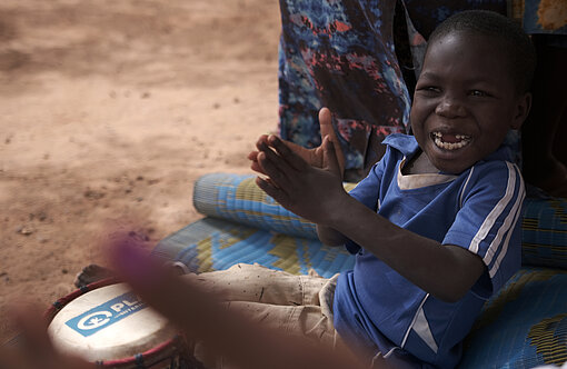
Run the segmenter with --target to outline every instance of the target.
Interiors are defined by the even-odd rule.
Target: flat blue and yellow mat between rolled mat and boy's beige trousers
[[[355,265],[352,256],[342,248],[215,218],[205,218],[168,236],[152,252],[165,260],[180,261],[198,273],[257,262],[292,275],[307,275],[314,269],[330,278]]]

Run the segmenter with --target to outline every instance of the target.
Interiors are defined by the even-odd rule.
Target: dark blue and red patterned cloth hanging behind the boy
[[[421,34],[429,36],[458,11],[506,13],[505,0],[401,3],[408,17],[398,17],[395,23],[396,0],[280,0],[280,136],[305,147],[319,146],[318,111],[328,107],[350,181],[362,179],[382,157],[386,136],[409,129],[411,92],[398,60],[414,69],[419,68],[420,56],[404,58],[402,50],[422,53]]]

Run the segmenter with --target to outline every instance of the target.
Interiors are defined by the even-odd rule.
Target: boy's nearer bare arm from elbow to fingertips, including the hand
[[[325,169],[308,166],[276,137],[269,143],[277,153],[262,150],[258,159],[270,180],[258,178],[258,186],[285,208],[326,227],[321,230],[330,228],[348,237],[445,301],[460,299],[484,272],[483,260],[472,252],[395,226],[350,197],[334,174],[337,163],[328,139],[324,141]]]

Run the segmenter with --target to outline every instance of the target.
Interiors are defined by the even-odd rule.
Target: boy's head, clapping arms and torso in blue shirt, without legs
[[[324,243],[356,253],[338,278],[335,329],[362,356],[396,366],[452,368],[483,303],[520,265],[524,183],[503,146],[519,129],[535,52],[510,20],[458,13],[434,31],[411,107],[414,137],[392,134],[350,193],[336,138],[322,168],[281,140],[260,138],[258,186],[317,223]]]

